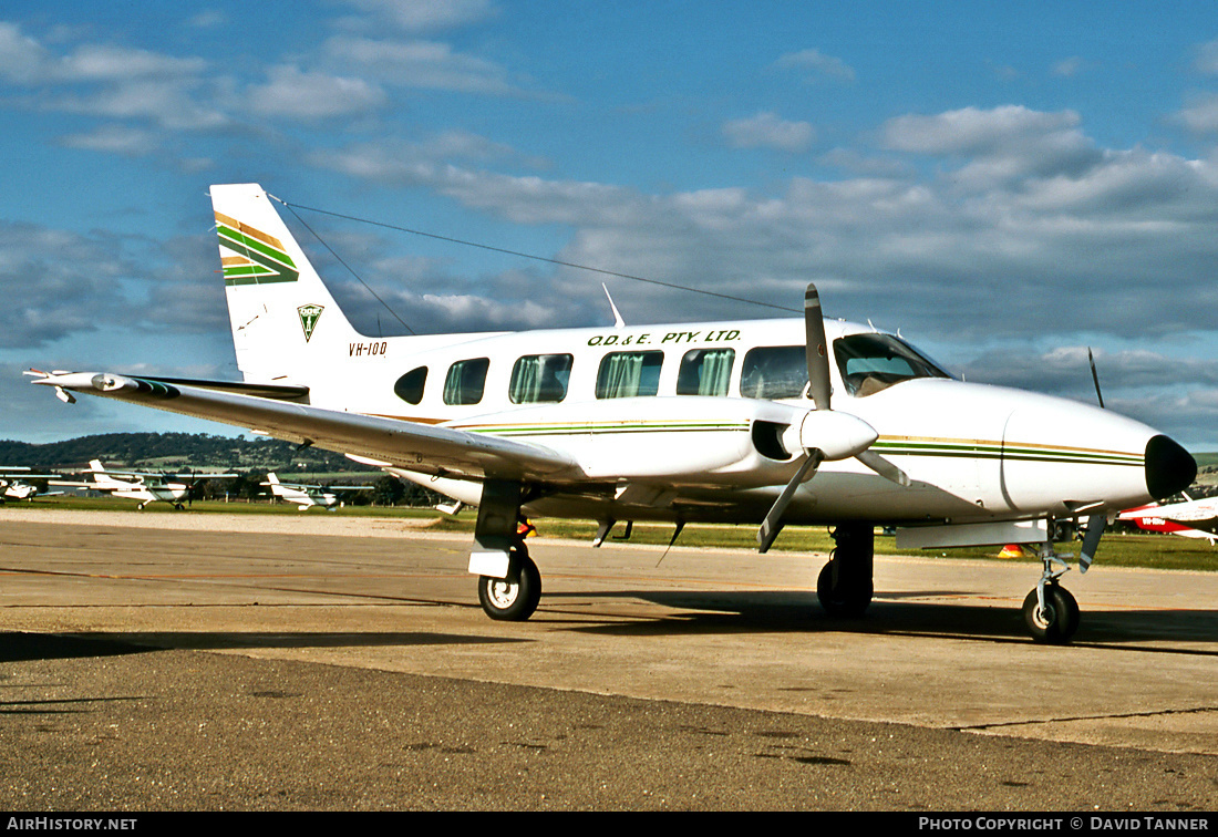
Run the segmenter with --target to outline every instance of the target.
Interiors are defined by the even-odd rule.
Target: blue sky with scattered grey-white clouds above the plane
[[[630,323],[782,313],[391,227],[816,281],[968,380],[1094,401],[1091,347],[1218,450],[1212,4],[9,0],[0,108],[0,437],[234,433],[21,372],[236,376],[206,192],[257,182],[365,333],[608,324],[603,280]]]

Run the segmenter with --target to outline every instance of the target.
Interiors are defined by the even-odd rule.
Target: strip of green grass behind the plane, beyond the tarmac
[[[168,503],[152,503],[145,510],[138,512],[135,503],[130,501],[114,500],[111,497],[84,498],[84,497],[46,497],[35,503],[9,503],[6,508],[62,508],[62,509],[97,509],[110,512],[129,512],[133,515],[147,514],[311,514],[314,517],[341,515],[364,518],[410,518],[423,519],[432,531],[473,532],[475,512],[464,510],[456,518],[437,512],[432,508],[400,508],[400,507],[374,507],[374,506],[347,506],[335,512],[322,509],[309,509],[300,512],[291,504],[270,504],[267,502],[195,502],[188,510],[178,512]],[[580,520],[533,520],[538,536],[574,539],[591,541],[596,534],[597,525],[593,521]],[[636,524],[631,536],[631,543],[667,545],[672,537],[672,525],[670,524]],[[625,525],[619,524],[610,534],[605,546],[610,546],[613,537],[620,536],[625,531]],[[733,526],[714,524],[689,524],[681,532],[677,540],[680,546],[704,546],[719,548],[756,548],[755,526]],[[1058,552],[1078,554],[1079,543],[1061,543]],[[789,526],[778,536],[775,542],[775,551],[795,552],[828,552],[833,548],[833,540],[828,529],[823,526]],[[877,534],[877,554],[910,554],[909,551],[896,549],[895,541],[890,536]],[[951,558],[973,558],[978,560],[1015,560],[1035,564],[1037,560],[1029,557],[999,558],[998,547],[968,547],[960,549],[927,549],[915,551],[912,554],[943,556]],[[1207,541],[1179,537],[1175,535],[1155,535],[1147,532],[1110,531],[1104,536],[1096,554],[1096,564],[1110,567],[1142,567],[1150,569],[1175,569],[1175,570],[1218,570],[1218,548],[1209,546]]]

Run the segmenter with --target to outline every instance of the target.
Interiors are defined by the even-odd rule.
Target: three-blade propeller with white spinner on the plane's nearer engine
[[[868,450],[879,434],[856,415],[834,412],[831,407],[833,387],[829,384],[828,341],[825,337],[825,314],[816,285],[804,292],[804,331],[808,339],[808,391],[816,404],[808,411],[799,426],[799,445],[805,459],[778,495],[758,530],[758,551],[766,552],[782,530],[782,515],[799,486],[816,475],[822,462],[856,458],[884,479],[907,486],[909,475],[900,468]]]

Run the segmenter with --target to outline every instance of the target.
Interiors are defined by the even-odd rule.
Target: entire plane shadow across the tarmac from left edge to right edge
[[[566,630],[603,636],[663,637],[747,632],[857,634],[972,640],[1028,645],[1023,618],[1010,606],[977,607],[943,602],[900,601],[950,593],[877,593],[866,615],[826,615],[808,593],[788,591],[619,591],[554,593],[542,597],[537,619],[554,626],[575,613],[574,602],[639,599],[667,610],[622,620],[620,612],[598,619],[580,607]],[[470,604],[476,607],[476,604]],[[527,625],[527,623],[525,624]],[[44,635],[0,632],[0,663],[38,659],[95,658],[168,648],[228,651],[240,648],[357,648],[501,645],[544,642],[544,637],[487,636],[426,631],[167,631]],[[1153,643],[1153,645],[1149,645]],[[1211,647],[1196,647],[1208,643]],[[1086,610],[1074,636],[1077,647],[1104,647],[1218,657],[1216,610]],[[1181,647],[1189,645],[1191,647]]]

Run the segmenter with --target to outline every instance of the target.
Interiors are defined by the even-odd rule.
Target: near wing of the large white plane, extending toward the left
[[[35,384],[222,422],[386,465],[465,479],[561,479],[580,468],[541,445],[403,419],[361,415],[239,391],[231,383],[111,373],[40,373]]]

